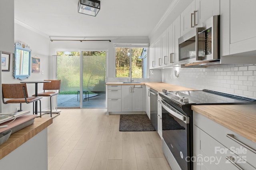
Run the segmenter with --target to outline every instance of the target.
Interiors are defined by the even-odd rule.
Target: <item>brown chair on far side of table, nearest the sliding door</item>
[[[49,83],[44,83],[44,92],[38,93],[41,97],[50,97],[50,114],[52,117],[52,96],[58,95],[60,93],[60,80],[46,80],[51,81]],[[34,95],[33,95],[34,96]],[[49,112],[46,112],[49,113]]]

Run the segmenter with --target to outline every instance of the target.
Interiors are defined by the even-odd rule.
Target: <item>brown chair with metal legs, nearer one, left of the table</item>
[[[9,99],[4,101],[4,99]],[[25,83],[19,84],[2,84],[2,101],[4,104],[8,103],[20,103],[20,111],[22,111],[22,103],[33,103],[34,113],[34,102],[39,101],[40,103],[40,117],[42,116],[41,101],[42,97],[28,97],[28,90]]]

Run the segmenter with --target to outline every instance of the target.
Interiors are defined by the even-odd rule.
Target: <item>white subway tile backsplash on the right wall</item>
[[[256,65],[222,64],[206,68],[176,67],[161,71],[162,82],[165,83],[198,90],[210,89],[256,99]],[[178,71],[178,77],[175,71]]]

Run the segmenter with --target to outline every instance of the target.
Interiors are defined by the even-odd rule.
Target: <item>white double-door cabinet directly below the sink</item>
[[[122,85],[122,112],[143,111],[143,85]]]

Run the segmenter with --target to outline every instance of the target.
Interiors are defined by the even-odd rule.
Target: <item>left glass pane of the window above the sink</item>
[[[129,77],[130,48],[116,48],[116,77]]]

